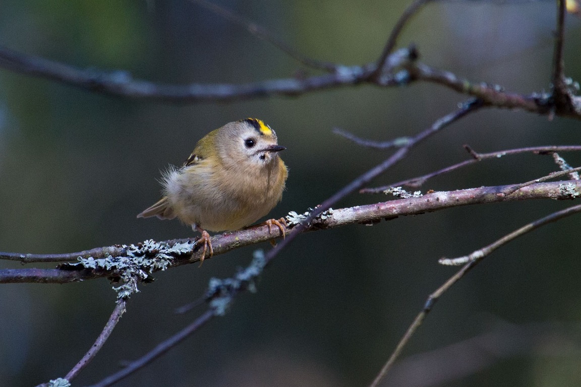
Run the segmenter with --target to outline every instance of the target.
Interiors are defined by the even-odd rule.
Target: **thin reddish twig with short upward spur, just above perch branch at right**
[[[503,157],[505,155],[513,155],[513,154],[521,154],[521,153],[537,153],[537,154],[554,154],[556,152],[570,152],[570,151],[581,151],[581,145],[565,145],[565,146],[537,146],[537,147],[526,147],[526,148],[517,148],[517,149],[508,149],[508,150],[500,150],[496,152],[490,153],[476,153],[471,147],[468,145],[464,145],[466,150],[472,155],[472,158],[469,160],[465,160],[462,162],[458,162],[458,164],[450,165],[450,167],[439,169],[438,171],[426,173],[423,176],[417,176],[415,178],[401,180],[400,182],[393,183],[391,185],[381,186],[381,187],[373,187],[373,188],[363,188],[359,190],[359,193],[383,193],[385,190],[390,189],[391,187],[400,187],[400,186],[408,186],[408,187],[420,187],[424,185],[426,181],[429,179],[434,178],[438,175],[443,175],[444,173],[448,173],[451,171],[455,171],[456,169],[460,169],[462,167],[467,167],[468,165],[476,164],[482,160],[490,160],[490,159],[497,159]]]

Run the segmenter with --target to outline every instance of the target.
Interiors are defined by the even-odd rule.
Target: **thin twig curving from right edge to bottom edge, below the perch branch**
[[[498,240],[496,243],[490,245],[489,247],[486,247],[486,248],[480,250],[480,251],[484,251],[487,248],[492,248],[492,249],[490,249],[490,251],[486,250],[486,252],[484,252],[485,254],[475,254],[476,252],[473,253],[474,256],[472,256],[472,259],[469,259],[469,261],[467,263],[465,263],[465,265],[462,266],[462,268],[460,270],[458,270],[458,272],[456,274],[454,274],[452,277],[450,277],[450,279],[447,280],[446,283],[444,283],[442,286],[437,288],[437,290],[435,292],[433,292],[431,295],[428,296],[428,299],[426,300],[426,302],[424,304],[424,308],[421,310],[421,312],[418,313],[418,315],[415,317],[414,321],[411,323],[410,327],[408,327],[406,334],[404,334],[403,337],[400,339],[399,343],[397,343],[396,349],[394,349],[392,354],[389,356],[388,361],[383,365],[381,371],[379,371],[379,374],[374,379],[374,381],[371,383],[370,387],[376,387],[379,384],[379,382],[381,382],[383,377],[385,377],[385,375],[390,370],[390,368],[392,368],[397,357],[399,357],[403,348],[410,341],[410,338],[414,335],[414,333],[422,325],[426,316],[428,316],[428,313],[431,312],[433,306],[439,300],[440,296],[442,296],[442,294],[444,294],[444,292],[449,290],[449,288],[452,285],[456,284],[462,277],[464,277],[464,275],[466,273],[468,273],[474,266],[478,265],[478,263],[481,262],[482,259],[484,259],[486,255],[490,254],[490,252],[494,251],[494,249],[500,247],[501,245],[507,243],[508,241],[510,241],[510,240],[512,240],[512,239],[514,239],[514,238],[516,238],[516,237],[518,237],[526,232],[529,232],[530,230],[533,230],[537,227],[543,226],[549,222],[555,222],[555,220],[564,218],[565,216],[576,214],[577,212],[580,212],[580,211],[581,211],[581,204],[578,204],[578,205],[575,205],[573,207],[566,208],[562,211],[555,212],[554,214],[546,216],[543,219],[539,219],[536,222],[530,223],[529,225],[522,227],[522,229],[519,229],[516,232],[511,233],[504,238],[501,238],[500,240]],[[533,225],[533,226],[531,226],[531,225]],[[505,240],[508,237],[511,237],[511,238],[508,240]],[[500,241],[503,241],[503,243],[500,243]],[[442,259],[440,259],[440,263],[447,264],[447,262],[442,262]]]

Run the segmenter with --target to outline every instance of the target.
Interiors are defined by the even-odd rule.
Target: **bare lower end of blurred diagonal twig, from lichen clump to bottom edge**
[[[115,372],[105,379],[102,379],[91,387],[108,387],[116,382],[119,382],[121,379],[127,377],[128,375],[131,375],[133,372],[140,370],[141,368],[151,363],[153,360],[162,356],[178,343],[187,339],[189,335],[203,327],[203,325],[210,321],[214,316],[215,314],[213,310],[207,310],[200,317],[198,317],[198,319],[193,321],[193,323],[189,324],[183,330],[168,338],[167,340],[159,343],[155,348],[146,353],[144,356],[139,357],[137,360],[131,361],[131,363],[125,366],[122,370]]]

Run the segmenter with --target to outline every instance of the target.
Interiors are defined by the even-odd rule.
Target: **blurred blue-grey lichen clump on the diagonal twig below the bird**
[[[241,290],[256,292],[255,280],[266,266],[264,251],[256,250],[252,262],[246,269],[238,270],[234,277],[227,279],[211,278],[206,292],[206,298],[210,300],[210,308],[216,316],[224,316],[234,297]]]

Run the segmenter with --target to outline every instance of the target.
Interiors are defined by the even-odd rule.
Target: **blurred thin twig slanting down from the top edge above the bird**
[[[270,44],[274,45],[282,52],[286,53],[286,55],[296,59],[298,62],[304,64],[304,66],[317,68],[318,70],[325,70],[329,73],[333,73],[337,70],[338,65],[331,62],[320,62],[318,60],[311,59],[300,53],[297,49],[293,48],[292,46],[286,44],[281,39],[278,39],[274,35],[272,35],[266,28],[259,26],[252,21],[245,19],[242,16],[236,15],[231,10],[228,10],[220,5],[208,2],[206,0],[189,0],[192,3],[198,4],[211,12],[216,13],[216,15],[220,15],[224,17],[224,19],[232,21],[232,23],[236,23],[243,28],[246,28],[246,31],[250,32],[250,34],[262,39],[264,41],[269,42]]]

